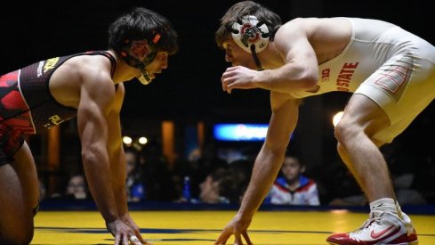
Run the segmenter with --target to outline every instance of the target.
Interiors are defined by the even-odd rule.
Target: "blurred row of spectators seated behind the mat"
[[[165,159],[157,144],[141,150],[125,147],[128,201],[171,201],[191,203],[240,203],[248,185],[254,157],[223,159],[210,143],[195,157]],[[435,177],[433,159],[423,159],[423,167],[413,167],[398,159],[392,147],[383,149],[391,167],[391,175],[401,205],[435,204],[435,190],[430,180]],[[418,171],[418,169],[424,171]],[[83,169],[65,175],[57,192],[47,192],[41,176],[41,200],[89,200]],[[367,205],[363,193],[349,170],[337,160],[318,171],[308,173],[298,156],[288,154],[278,173],[265,204],[270,205]],[[316,170],[316,169],[315,169]]]

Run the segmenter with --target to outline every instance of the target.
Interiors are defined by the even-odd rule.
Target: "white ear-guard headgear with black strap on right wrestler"
[[[254,15],[242,17],[242,23],[234,22],[231,27],[231,35],[247,53],[252,53],[257,69],[262,70],[262,64],[257,53],[262,52],[269,44],[269,29],[265,23],[260,22]]]

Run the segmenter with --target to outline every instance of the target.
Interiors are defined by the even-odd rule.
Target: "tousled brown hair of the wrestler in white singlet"
[[[253,1],[239,2],[232,5],[221,18],[221,26],[214,34],[214,39],[219,47],[222,47],[223,42],[231,37],[234,22],[242,22],[242,17],[246,15],[254,15],[259,22],[266,24],[270,32],[270,40],[273,40],[275,33],[282,25],[279,15],[271,12],[262,4]]]

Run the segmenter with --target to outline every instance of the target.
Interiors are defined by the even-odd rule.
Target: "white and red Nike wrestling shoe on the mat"
[[[391,213],[369,218],[351,233],[338,233],[326,241],[332,245],[417,245],[417,234],[409,216]]]

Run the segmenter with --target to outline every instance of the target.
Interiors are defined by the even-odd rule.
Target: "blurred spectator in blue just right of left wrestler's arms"
[[[139,167],[139,153],[133,149],[125,149],[126,179],[125,188],[127,201],[145,200],[145,186]]]

